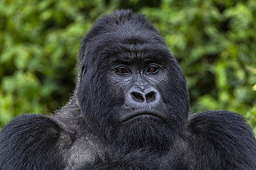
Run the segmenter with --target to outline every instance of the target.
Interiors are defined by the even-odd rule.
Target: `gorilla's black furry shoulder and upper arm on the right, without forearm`
[[[190,117],[188,131],[195,169],[255,169],[256,140],[244,117],[205,111]]]

